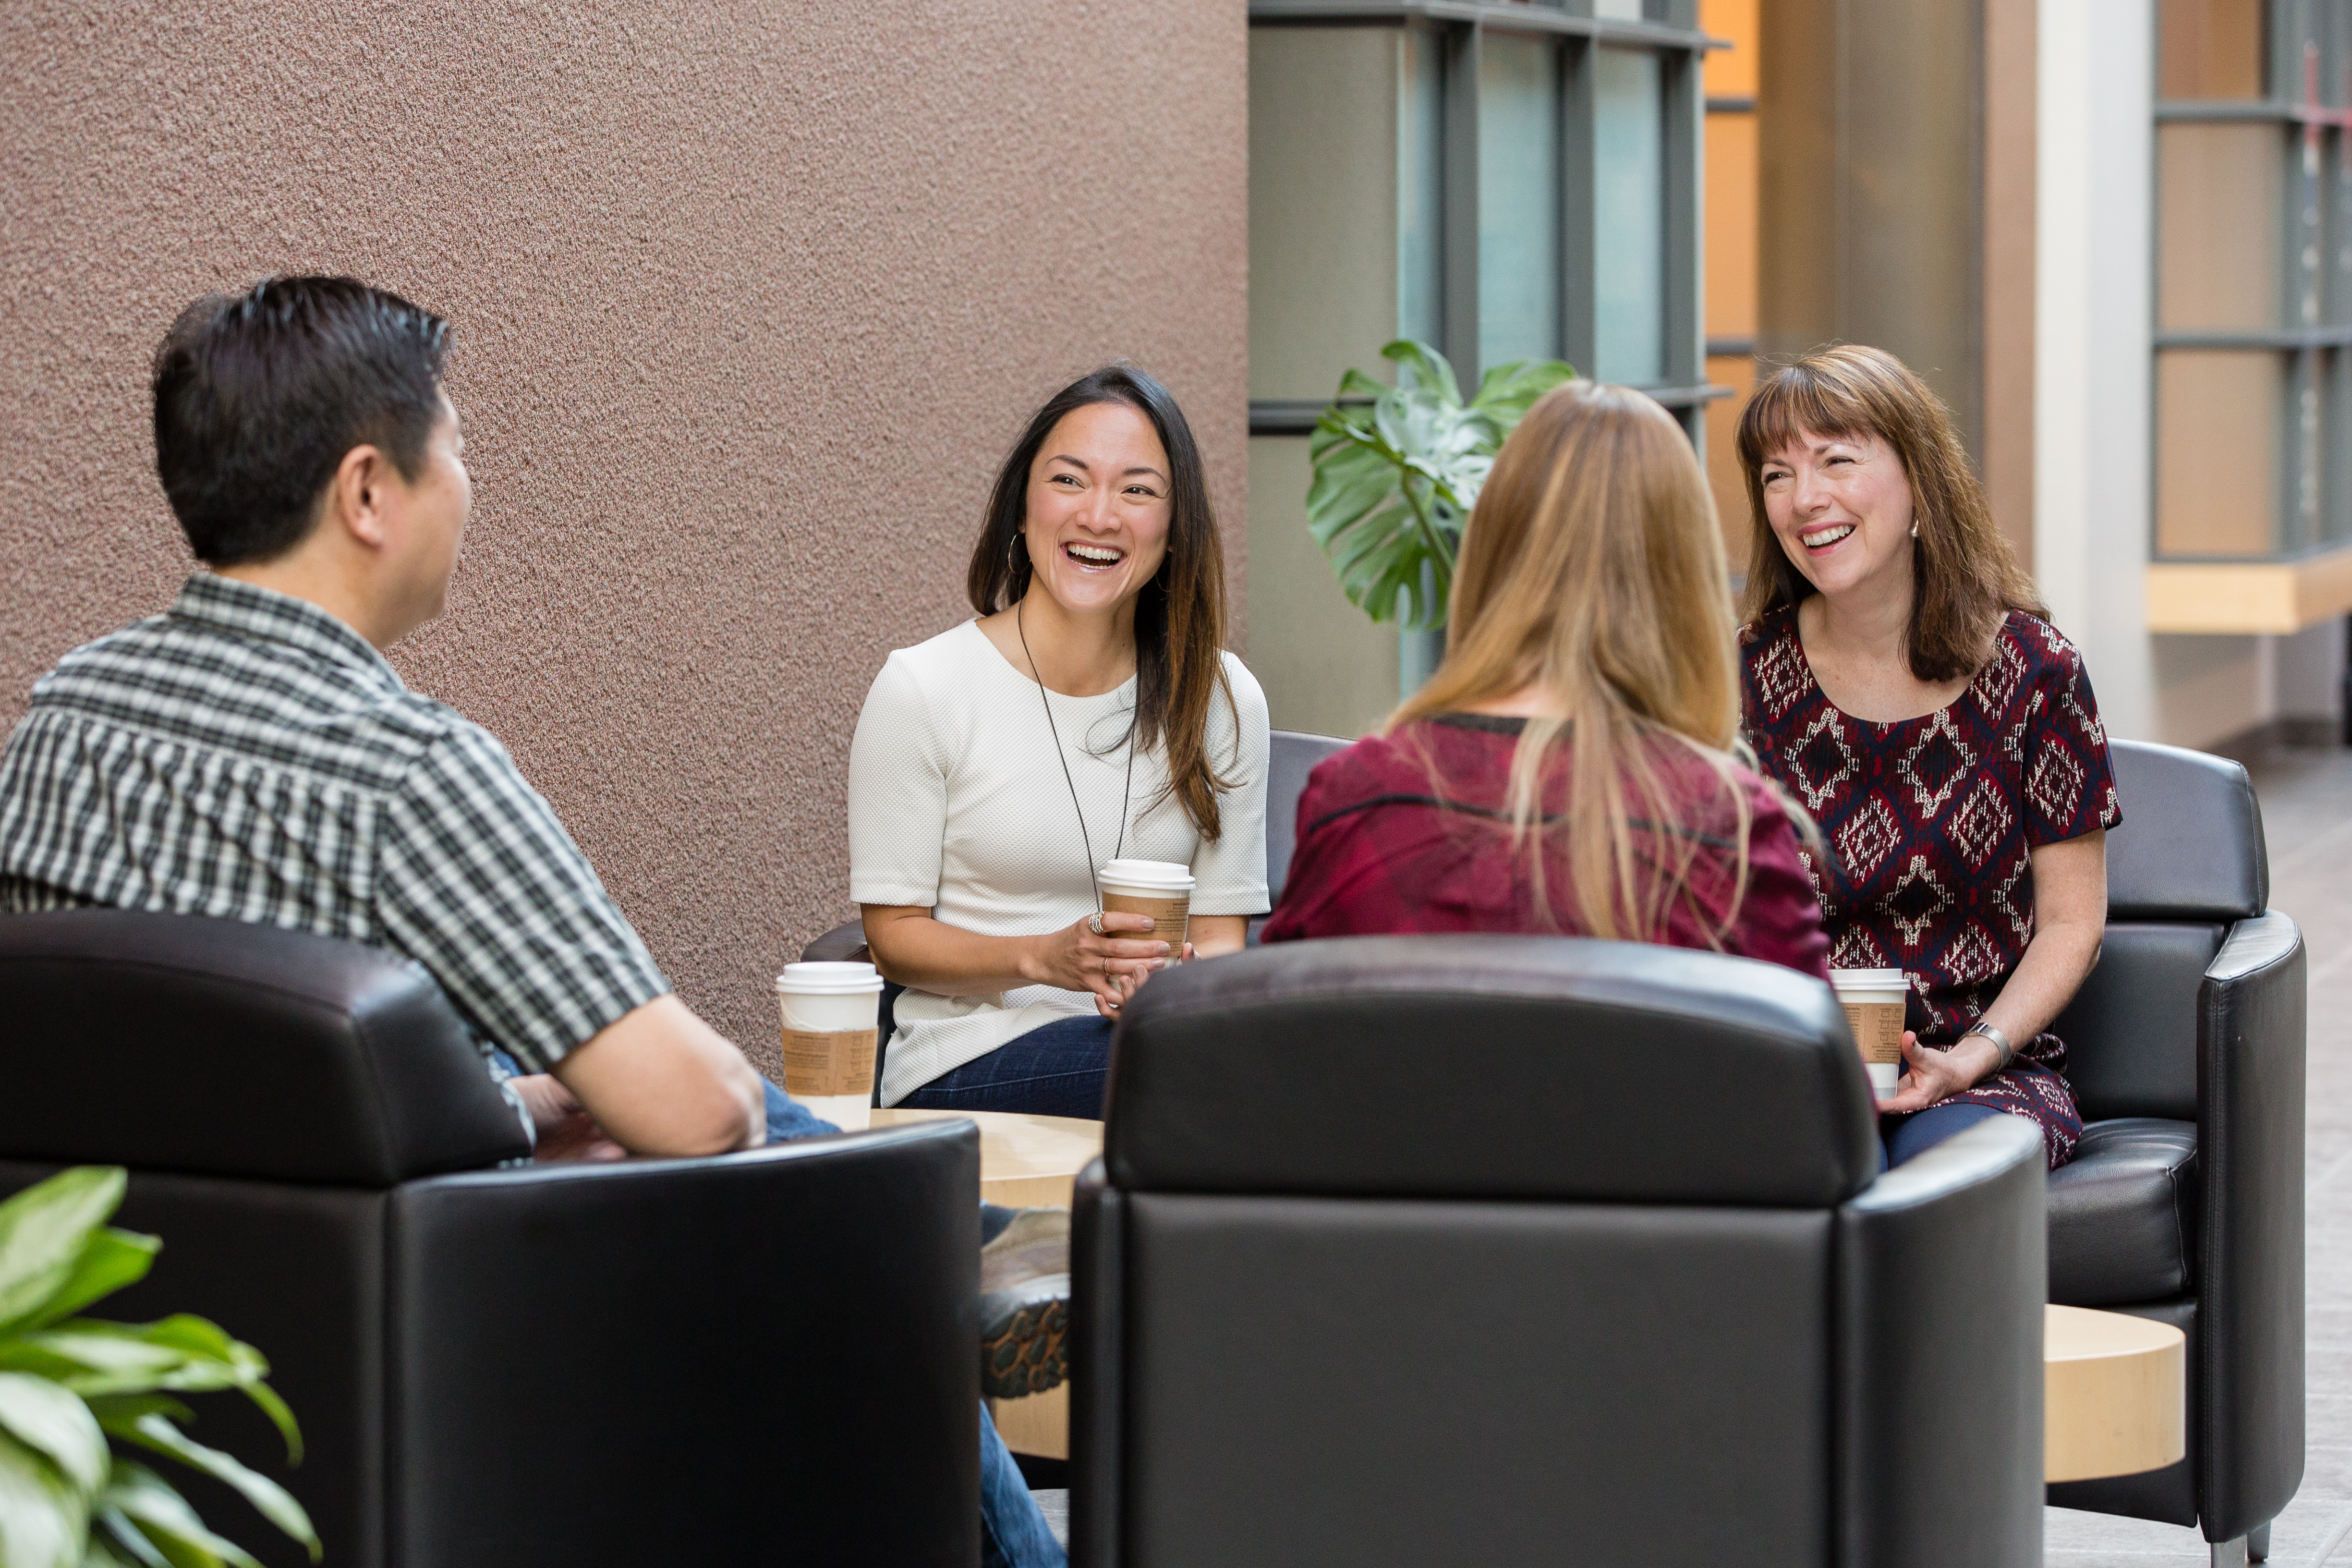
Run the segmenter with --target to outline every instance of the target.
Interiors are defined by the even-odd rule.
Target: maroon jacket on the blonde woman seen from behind
[[[1298,797],[1298,853],[1263,940],[1416,931],[1578,936],[1566,846],[1550,835],[1545,898],[1555,924],[1545,926],[1536,919],[1524,849],[1510,842],[1510,757],[1522,729],[1522,719],[1449,712],[1357,741],[1317,764]],[[1548,804],[1566,790],[1569,745],[1552,764]],[[1696,757],[1661,750],[1661,769],[1689,802],[1670,830],[1698,842],[1689,891],[1705,919],[1677,900],[1665,940],[1705,950],[1715,945],[1708,926],[1722,924],[1731,905],[1736,816],[1715,771]],[[1752,813],[1748,896],[1722,950],[1828,978],[1830,940],[1797,856],[1797,830],[1764,780],[1745,769],[1736,778]],[[1656,832],[1637,820],[1635,844]]]

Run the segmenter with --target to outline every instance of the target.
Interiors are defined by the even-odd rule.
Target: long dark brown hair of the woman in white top
[[[1145,811],[1176,797],[1200,837],[1223,832],[1216,797],[1232,780],[1209,757],[1209,703],[1232,705],[1225,684],[1225,548],[1209,505],[1209,470],[1192,442],[1192,425],[1164,386],[1131,364],[1105,364],[1054,393],[1030,416],[988,494],[988,522],[971,548],[964,592],[971,609],[993,616],[1030,590],[1028,550],[1014,548],[1028,529],[1028,482],[1054,425],[1077,409],[1117,402],[1152,421],[1169,454],[1169,545],[1160,571],[1136,595],[1136,745],[1167,745],[1169,783]],[[1235,729],[1240,741],[1240,729]]]

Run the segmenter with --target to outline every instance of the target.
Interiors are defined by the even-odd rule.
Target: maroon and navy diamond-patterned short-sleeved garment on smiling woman
[[[2034,936],[2030,853],[2124,820],[2082,654],[2011,611],[1957,701],[1896,724],[1830,703],[1795,609],[1740,630],[1740,665],[1757,764],[1813,813],[1832,858],[1809,863],[1830,964],[1905,971],[1905,1027],[1955,1044]],[[2006,1072],[1955,1098],[2037,1121],[2053,1171],[2082,1138],[2056,1034],[2018,1041]]]

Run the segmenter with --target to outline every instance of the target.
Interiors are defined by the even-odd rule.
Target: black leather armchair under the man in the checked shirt
[[[522,1128],[419,966],[223,919],[0,917],[0,1192],[132,1168],[165,1248],[101,1312],[270,1356],[308,1460],[240,1401],[200,1436],[329,1563],[976,1559],[969,1124],[494,1168]]]

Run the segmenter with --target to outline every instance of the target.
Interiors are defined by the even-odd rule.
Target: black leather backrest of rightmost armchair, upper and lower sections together
[[[2122,825],[2107,835],[2107,936],[2051,1030],[2089,1121],[2197,1119],[2197,992],[2230,922],[2270,905],[2263,809],[2246,769],[2114,741]]]

